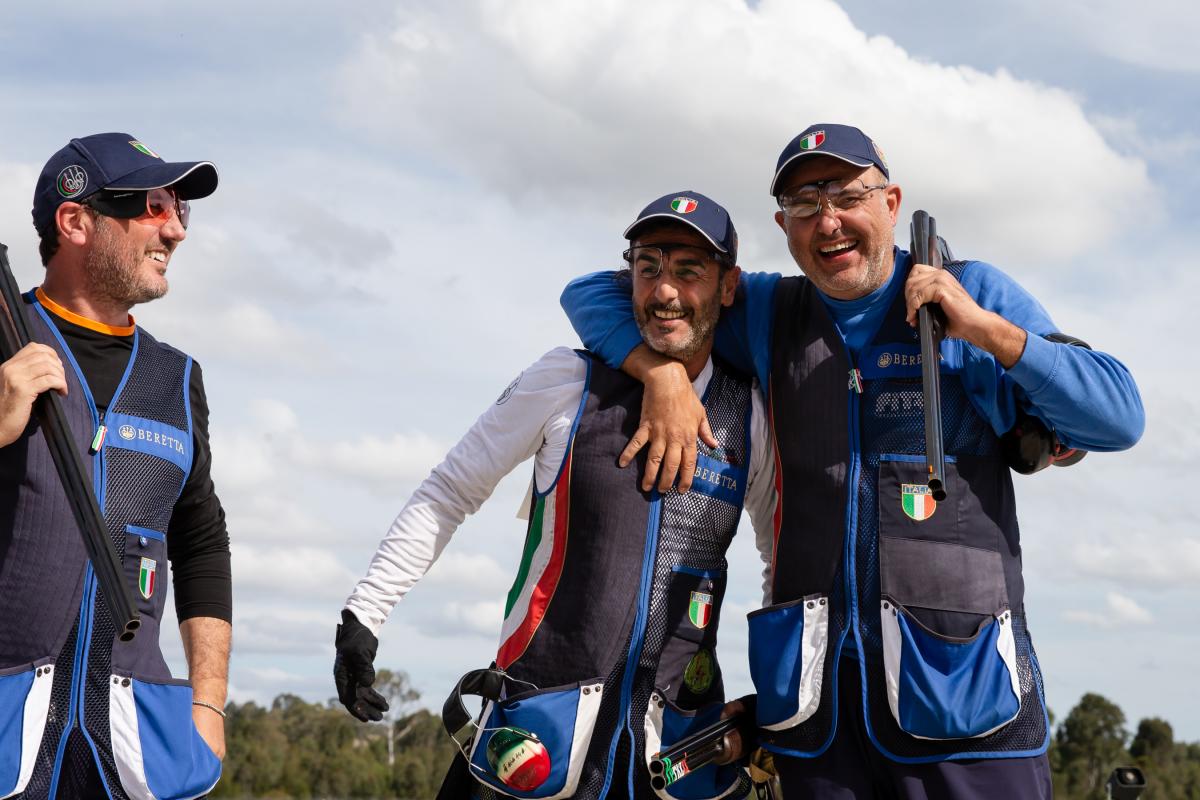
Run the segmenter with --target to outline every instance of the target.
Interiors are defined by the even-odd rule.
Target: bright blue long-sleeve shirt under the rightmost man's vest
[[[912,261],[896,248],[887,284],[858,300],[821,295],[851,355],[857,357],[908,276]],[[619,368],[642,336],[634,321],[629,288],[612,272],[571,281],[562,303],[584,347]],[[721,311],[716,353],[754,372],[766,391],[772,362],[772,330],[778,272],[743,272],[733,306]],[[997,435],[1009,431],[1019,408],[1039,417],[1069,447],[1115,451],[1133,446],[1145,427],[1141,396],[1129,371],[1111,355],[1044,338],[1058,329],[1050,315],[1010,277],[984,261],[970,261],[962,288],[982,308],[1026,330],[1025,351],[1010,369],[994,355],[962,339],[942,343],[943,363],[961,368],[962,384],[976,410]]]

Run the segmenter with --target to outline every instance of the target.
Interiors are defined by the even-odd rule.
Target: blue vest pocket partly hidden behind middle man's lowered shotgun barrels
[[[671,702],[667,693],[655,688],[646,709],[646,764],[650,758],[677,741],[715,724],[721,718],[724,702],[710,703],[696,711],[685,711]],[[719,800],[746,794],[745,771],[737,764],[707,764],[686,772],[686,777],[655,789],[664,800]],[[680,776],[683,777],[683,776]]]

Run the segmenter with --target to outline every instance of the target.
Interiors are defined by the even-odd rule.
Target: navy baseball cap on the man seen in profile
[[[71,139],[42,167],[34,190],[34,227],[54,227],[54,212],[101,190],[145,191],[170,186],[181,200],[208,197],[217,188],[217,168],[208,161],[167,162],[128,133],[96,133]]]

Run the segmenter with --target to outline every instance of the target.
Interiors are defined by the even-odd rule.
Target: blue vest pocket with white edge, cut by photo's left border
[[[53,684],[54,658],[0,669],[0,798],[24,792],[34,775]]]

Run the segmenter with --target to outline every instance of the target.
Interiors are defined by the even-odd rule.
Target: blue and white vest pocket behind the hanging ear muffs
[[[475,780],[514,798],[557,800],[575,794],[583,760],[592,744],[604,679],[539,688],[514,694],[484,709],[484,724],[470,748],[470,771]],[[487,759],[487,746],[500,728],[521,728],[538,736],[550,756],[550,776],[532,792],[503,783]]]

